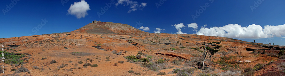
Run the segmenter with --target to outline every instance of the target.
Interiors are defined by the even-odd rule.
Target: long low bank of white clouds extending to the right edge
[[[278,26],[251,24],[242,27],[238,24],[228,24],[222,27],[201,28],[196,34],[207,36],[223,36],[229,38],[270,38],[285,36],[285,24]],[[282,37],[283,38],[283,37]]]

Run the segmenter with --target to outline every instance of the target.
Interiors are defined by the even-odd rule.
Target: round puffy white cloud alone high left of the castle
[[[74,2],[74,4],[70,5],[68,14],[75,15],[78,19],[80,19],[88,15],[88,10],[90,10],[88,3],[81,0],[80,2]]]

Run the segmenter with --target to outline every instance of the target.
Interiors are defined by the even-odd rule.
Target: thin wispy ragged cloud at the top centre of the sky
[[[130,7],[130,10],[128,11],[128,13],[131,13],[132,11],[136,11],[137,9],[143,10],[143,8],[147,5],[147,3],[138,4],[137,1],[132,1],[132,0],[117,0],[117,1],[118,3],[115,4],[116,6],[121,4],[123,6]]]

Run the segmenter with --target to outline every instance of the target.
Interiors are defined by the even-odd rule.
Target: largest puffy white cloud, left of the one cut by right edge
[[[196,34],[207,36],[223,36],[229,38],[268,38],[260,25],[252,24],[242,27],[238,24],[228,24],[223,27],[201,28]]]

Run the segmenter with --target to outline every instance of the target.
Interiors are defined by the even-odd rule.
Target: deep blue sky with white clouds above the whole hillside
[[[160,33],[224,36],[285,45],[284,0],[12,1],[0,3],[0,38],[70,32],[101,20],[129,24],[150,33],[157,33],[159,28]],[[107,10],[102,13],[104,7]],[[97,13],[102,13],[100,18]]]

